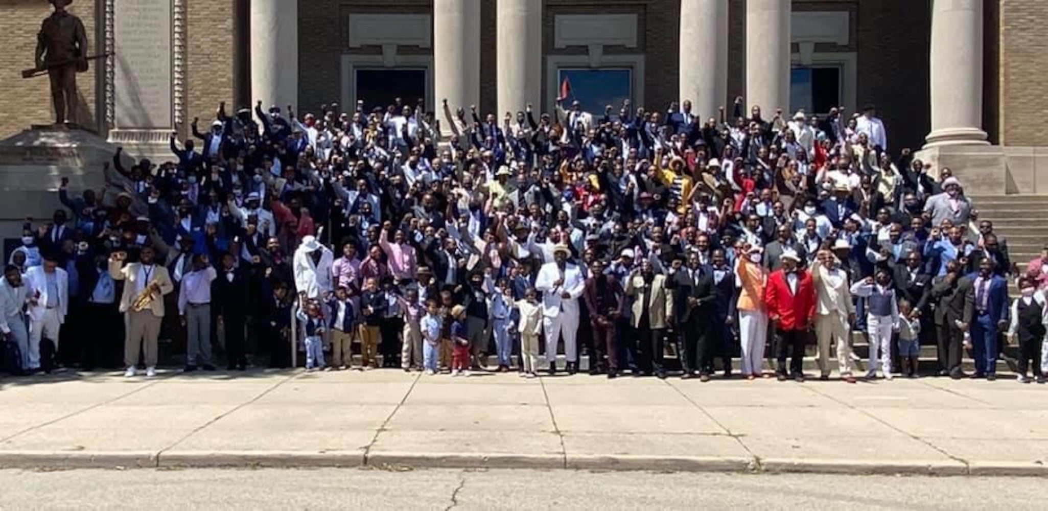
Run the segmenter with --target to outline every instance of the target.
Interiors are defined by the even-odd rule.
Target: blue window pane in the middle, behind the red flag
[[[632,81],[633,70],[629,68],[561,68],[556,95],[567,92],[565,108],[572,101],[578,101],[584,111],[598,115],[611,105],[612,112],[617,115],[624,99],[633,101]]]

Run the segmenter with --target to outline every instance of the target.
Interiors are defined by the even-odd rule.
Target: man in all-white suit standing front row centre
[[[568,373],[578,371],[575,335],[578,333],[578,297],[586,280],[578,266],[568,262],[567,245],[553,248],[553,262],[542,265],[534,288],[542,291],[542,326],[546,332],[546,360],[549,373],[556,372],[556,340],[564,334],[564,355]]]

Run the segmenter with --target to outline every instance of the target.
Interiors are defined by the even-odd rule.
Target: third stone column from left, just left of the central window
[[[498,0],[496,9],[498,115],[516,118],[529,103],[542,108],[542,2]]]

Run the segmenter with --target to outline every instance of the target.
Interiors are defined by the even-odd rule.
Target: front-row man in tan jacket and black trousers
[[[665,329],[673,318],[673,293],[665,288],[665,275],[656,274],[651,260],[640,262],[640,268],[626,281],[626,294],[633,296],[633,328],[637,329],[636,353],[638,374],[665,378],[662,350]],[[632,348],[632,347],[631,347]]]

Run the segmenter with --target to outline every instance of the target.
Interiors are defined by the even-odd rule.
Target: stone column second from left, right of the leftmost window
[[[472,123],[470,106],[480,102],[480,0],[433,0],[433,88],[437,109],[447,99]]]

